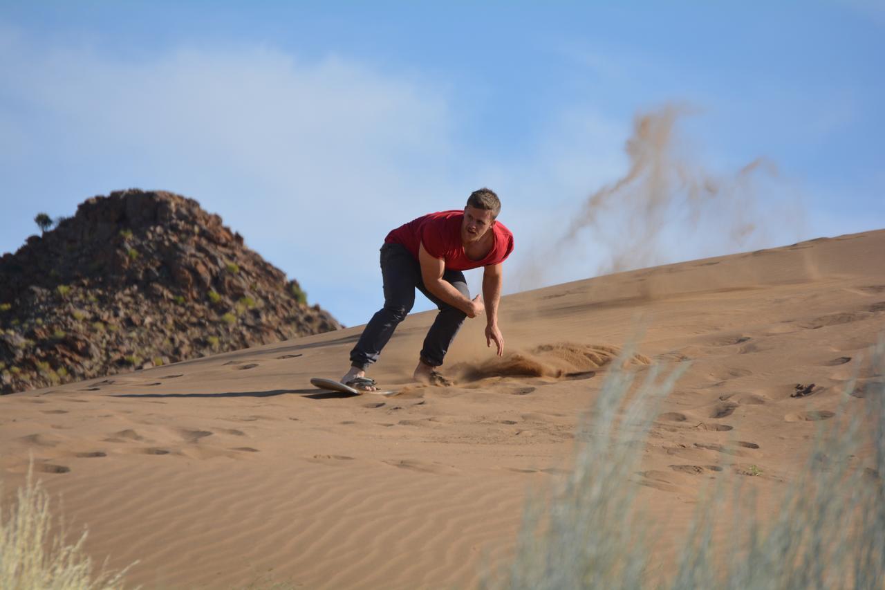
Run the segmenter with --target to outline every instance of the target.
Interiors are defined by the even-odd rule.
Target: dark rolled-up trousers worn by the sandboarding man
[[[421,266],[404,245],[381,246],[381,277],[384,279],[384,307],[366,324],[363,335],[350,351],[350,364],[365,370],[370,364],[378,361],[381,349],[393,336],[396,326],[412,310],[417,287],[440,309],[439,314],[436,314],[434,325],[427,332],[427,338],[424,338],[421,361],[431,367],[442,365],[443,357],[467,315],[427,291],[421,280]],[[443,280],[451,283],[466,298],[470,298],[464,273],[447,270],[443,273]]]

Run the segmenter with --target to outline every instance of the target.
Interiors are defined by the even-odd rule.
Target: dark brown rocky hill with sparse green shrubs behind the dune
[[[337,330],[191,198],[122,190],[0,258],[0,393]]]

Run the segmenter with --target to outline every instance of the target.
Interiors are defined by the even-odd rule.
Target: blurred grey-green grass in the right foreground
[[[881,376],[885,344],[874,356]],[[804,470],[788,485],[771,521],[751,507],[739,475],[723,475],[697,503],[673,574],[650,565],[654,531],[643,519],[631,482],[643,456],[658,402],[673,373],[655,371],[632,393],[620,367],[604,383],[581,423],[573,471],[548,498],[527,504],[516,557],[500,586],[510,588],[880,588],[885,579],[885,387],[866,386],[866,415],[822,426]],[[842,414],[853,384],[843,393]],[[877,391],[871,394],[870,389]],[[620,411],[619,411],[620,410]],[[837,414],[840,415],[840,414]],[[869,428],[861,428],[866,421]],[[827,423],[824,423],[827,424]],[[872,436],[867,439],[866,434]],[[855,458],[873,449],[873,470]],[[761,475],[757,466],[743,471]],[[732,501],[732,514],[725,501]],[[746,508],[750,505],[750,508]],[[724,527],[724,528],[723,528]],[[714,536],[713,530],[720,534]],[[725,531],[723,534],[722,531]],[[713,543],[714,538],[723,541]],[[489,582],[489,586],[497,586]]]

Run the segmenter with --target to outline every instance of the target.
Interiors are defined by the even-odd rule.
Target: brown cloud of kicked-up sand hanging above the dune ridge
[[[758,158],[734,173],[707,172],[703,158],[679,142],[677,122],[690,114],[686,105],[668,104],[635,117],[627,174],[590,194],[580,210],[560,213],[565,226],[548,232],[517,270],[519,291],[550,284],[553,271],[562,279],[564,265],[580,272],[567,279],[574,280],[738,252],[765,239],[773,220],[760,210],[758,183],[775,178],[776,167]],[[593,266],[577,268],[586,260]]]

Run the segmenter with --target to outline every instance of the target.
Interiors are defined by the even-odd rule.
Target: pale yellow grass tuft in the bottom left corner
[[[83,550],[87,532],[72,545],[65,540],[64,532],[53,533],[57,530],[50,514],[49,493],[39,481],[34,481],[32,465],[12,507],[0,505],[0,588],[122,587],[126,570],[113,573],[103,569],[93,573],[92,560]]]

